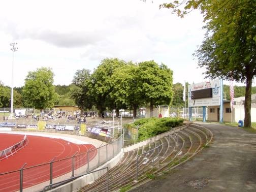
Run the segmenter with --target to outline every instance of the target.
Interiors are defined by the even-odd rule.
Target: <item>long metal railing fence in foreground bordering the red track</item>
[[[122,135],[106,145],[88,150],[80,154],[73,154],[63,159],[52,159],[50,162],[20,170],[1,173],[0,188],[7,191],[19,190],[34,186],[35,190],[42,190],[42,182],[56,183],[84,173],[89,173],[95,168],[108,162],[117,155],[122,148]],[[37,185],[37,186],[35,186]],[[18,187],[19,186],[19,187]],[[15,188],[16,187],[16,188]]]

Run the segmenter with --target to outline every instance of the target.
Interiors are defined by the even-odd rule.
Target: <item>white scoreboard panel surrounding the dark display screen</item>
[[[191,91],[212,88],[212,98],[191,99]],[[220,81],[209,80],[188,85],[188,107],[217,106],[220,105]]]

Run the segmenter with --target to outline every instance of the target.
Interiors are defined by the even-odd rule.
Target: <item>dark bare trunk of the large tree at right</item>
[[[252,78],[247,76],[244,102],[244,127],[251,127],[251,83]]]

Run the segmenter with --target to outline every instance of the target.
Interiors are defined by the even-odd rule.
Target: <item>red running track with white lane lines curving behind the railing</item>
[[[7,143],[11,146],[15,144],[16,140],[20,140],[23,137],[24,135],[0,134],[0,148],[6,146]],[[5,143],[2,143],[3,138],[5,138]],[[68,157],[72,157],[76,151],[80,155],[75,157],[75,169],[87,163],[87,151],[91,150],[89,152],[89,161],[97,155],[97,150],[93,150],[95,147],[91,144],[78,145],[63,139],[31,135],[27,135],[27,138],[28,144],[23,149],[0,162],[1,192],[19,190],[19,171],[1,174],[19,170],[25,163],[27,165],[23,171],[23,188],[48,181],[50,179],[50,165],[46,163],[49,163],[54,157],[53,178],[56,178],[72,171],[72,158]],[[60,161],[63,158],[66,159]],[[37,166],[39,164],[44,165]]]

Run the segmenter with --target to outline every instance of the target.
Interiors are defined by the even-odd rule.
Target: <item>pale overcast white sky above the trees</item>
[[[206,81],[192,56],[201,45],[203,16],[179,18],[159,9],[163,0],[3,1],[0,6],[0,81],[24,85],[29,71],[52,68],[54,84],[69,85],[77,70],[104,58],[154,60],[173,71],[173,82]],[[18,51],[11,51],[10,43]],[[228,82],[224,82],[228,84]],[[237,84],[244,85],[244,84]]]

